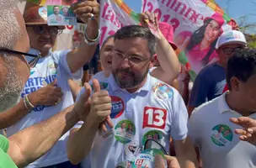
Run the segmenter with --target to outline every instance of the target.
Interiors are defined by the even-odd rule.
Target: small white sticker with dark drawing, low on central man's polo
[[[130,162],[136,160],[136,156],[141,153],[142,146],[139,145],[138,141],[132,141],[125,144],[125,157]]]

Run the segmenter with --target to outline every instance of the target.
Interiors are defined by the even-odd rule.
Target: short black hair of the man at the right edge
[[[227,63],[227,85],[229,89],[232,90],[232,77],[237,77],[240,81],[246,82],[254,74],[256,74],[256,50],[236,50]]]

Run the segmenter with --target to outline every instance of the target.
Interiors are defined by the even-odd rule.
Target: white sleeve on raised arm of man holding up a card
[[[52,53],[52,58],[58,64],[58,66],[60,66],[61,70],[66,72],[68,78],[79,80],[83,76],[83,67],[81,67],[75,73],[72,73],[72,71],[70,70],[70,67],[67,64],[67,54],[70,51],[71,50],[58,50],[58,51],[54,51]]]

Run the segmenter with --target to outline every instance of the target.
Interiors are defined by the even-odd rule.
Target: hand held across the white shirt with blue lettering
[[[32,92],[28,95],[29,101],[33,106],[45,105],[52,106],[57,105],[62,100],[63,93],[61,87],[56,87],[57,80],[48,84],[45,87],[41,87],[39,90]]]

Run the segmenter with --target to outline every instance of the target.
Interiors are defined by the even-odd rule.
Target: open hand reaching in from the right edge
[[[248,117],[230,118],[232,123],[243,127],[243,129],[235,129],[235,134],[239,134],[239,139],[256,145],[256,120]]]

